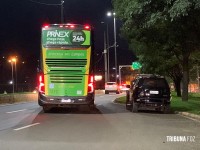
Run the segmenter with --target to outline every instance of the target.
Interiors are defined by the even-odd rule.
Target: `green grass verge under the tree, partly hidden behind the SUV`
[[[126,97],[120,97],[115,100],[117,103],[125,104]],[[200,93],[189,93],[189,100],[182,101],[175,92],[172,92],[171,100],[172,112],[189,112],[200,115]]]

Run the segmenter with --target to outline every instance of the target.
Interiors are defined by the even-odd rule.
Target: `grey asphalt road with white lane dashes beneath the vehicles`
[[[131,113],[112,102],[118,96],[97,95],[92,112],[43,113],[36,102],[0,106],[0,150],[200,149],[200,122],[176,114]]]

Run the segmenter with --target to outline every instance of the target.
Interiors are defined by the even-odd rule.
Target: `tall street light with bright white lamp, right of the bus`
[[[111,13],[111,12],[108,12],[107,13],[107,16],[110,17],[110,16],[113,16],[113,21],[114,21],[114,48],[115,48],[115,81],[117,82],[117,37],[116,37],[116,19],[115,19],[115,13]]]

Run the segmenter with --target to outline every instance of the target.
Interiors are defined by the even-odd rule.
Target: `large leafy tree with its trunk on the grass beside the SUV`
[[[189,60],[200,48],[199,0],[113,0],[113,5],[124,23],[123,34],[130,44],[139,43],[142,49],[139,59],[145,56],[143,48],[150,54],[156,50],[173,53],[179,62],[174,67],[183,71],[182,100],[187,101]],[[155,33],[157,37],[149,36]]]

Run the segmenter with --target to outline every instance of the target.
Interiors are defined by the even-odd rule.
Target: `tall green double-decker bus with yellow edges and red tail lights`
[[[53,107],[94,106],[92,30],[88,25],[42,27],[38,104]]]

